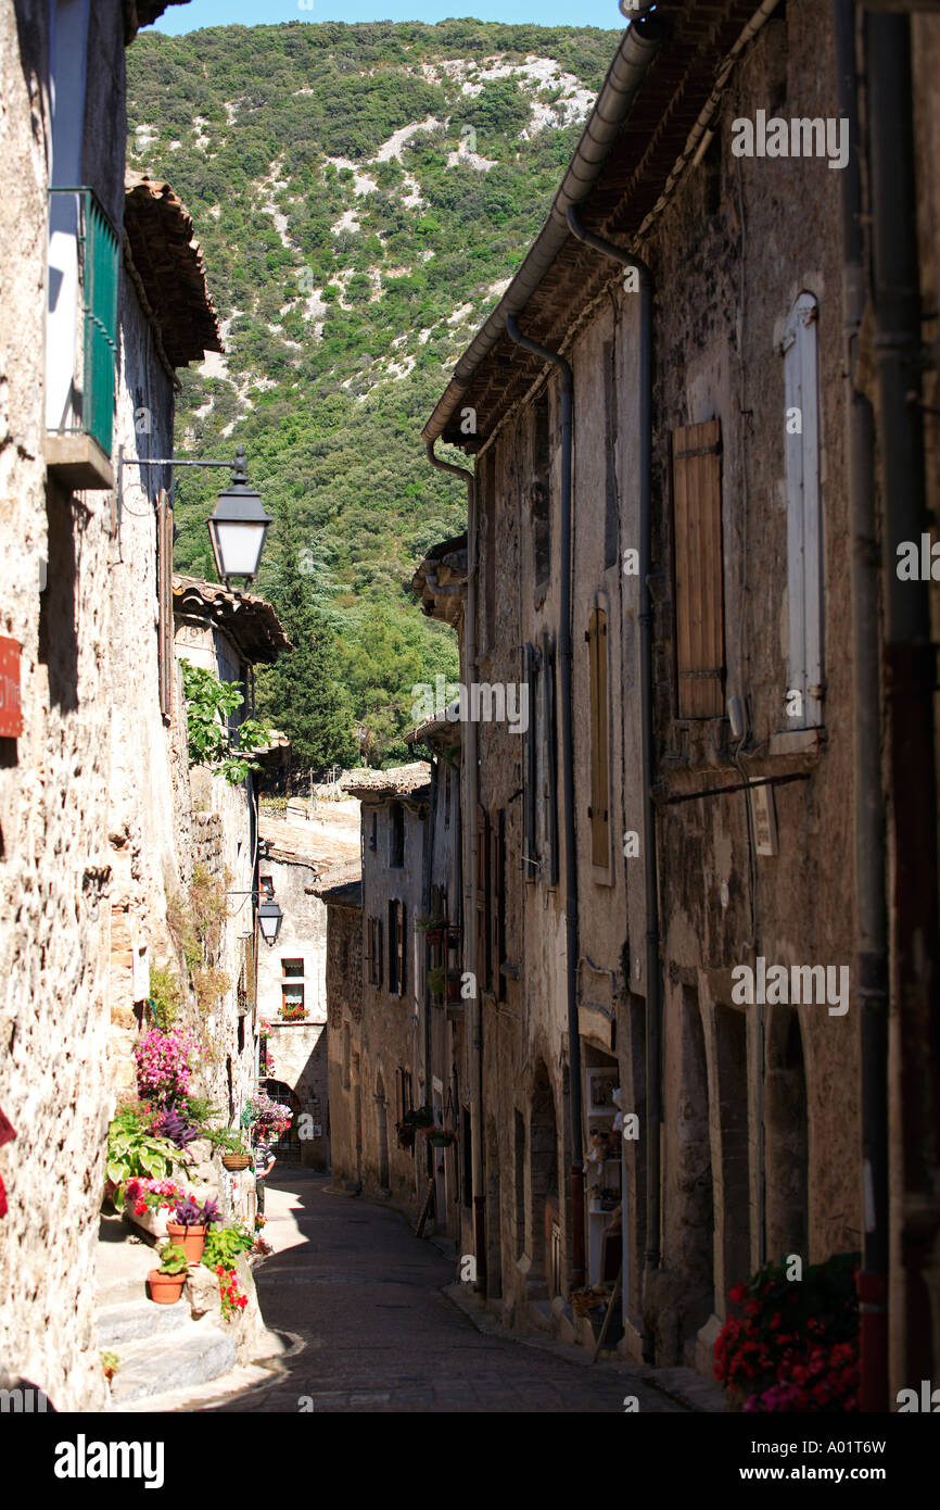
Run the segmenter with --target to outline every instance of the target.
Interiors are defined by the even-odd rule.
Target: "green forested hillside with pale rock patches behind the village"
[[[302,766],[403,755],[456,676],[407,584],[463,528],[421,424],[537,233],[616,32],[308,24],[140,36],[128,160],[193,214],[226,352],[183,374],[177,451],[237,442],[276,518],[261,590],[297,651],[261,702]],[[217,473],[178,480],[177,569],[213,577]]]

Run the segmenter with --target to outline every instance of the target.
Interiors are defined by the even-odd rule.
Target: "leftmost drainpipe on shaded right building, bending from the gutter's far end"
[[[438,471],[451,473],[466,483],[466,607],[463,613],[463,675],[475,680],[477,669],[477,559],[474,536],[477,530],[475,474],[468,467],[454,467],[435,456],[435,442],[425,445],[427,459]],[[466,719],[463,725],[463,755],[466,778],[460,784],[463,800],[463,832],[468,837],[468,867],[463,873],[463,968],[474,980],[477,975],[477,725]],[[469,1083],[471,1083],[471,1160],[474,1181],[474,1249],[477,1255],[475,1290],[486,1293],[486,1166],[483,1140],[483,1000],[475,991],[472,997],[472,1024],[469,1031]]]

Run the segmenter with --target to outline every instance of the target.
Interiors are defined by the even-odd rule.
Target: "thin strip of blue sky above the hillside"
[[[178,36],[202,26],[258,26],[275,21],[530,21],[536,26],[602,26],[623,30],[617,0],[190,0],[175,5],[154,30]]]

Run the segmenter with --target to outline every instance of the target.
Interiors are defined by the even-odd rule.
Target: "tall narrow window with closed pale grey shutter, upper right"
[[[822,723],[822,507],[819,495],[819,305],[797,299],[782,344],[786,403],[788,726]],[[792,693],[798,693],[798,699]]]

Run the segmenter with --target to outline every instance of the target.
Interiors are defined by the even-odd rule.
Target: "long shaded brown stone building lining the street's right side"
[[[902,924],[892,968],[910,1006],[884,1078],[886,886],[911,904],[919,874],[935,936],[931,636],[923,604],[916,633],[901,610],[893,634],[878,624],[877,566],[859,545],[852,563],[852,541],[875,538],[875,495],[892,512],[892,456],[914,458],[926,495],[916,459],[935,420],[892,409],[898,371],[920,384],[920,331],[905,307],[908,365],[875,378],[862,316],[868,297],[890,328],[892,202],[935,308],[937,18],[866,23],[875,88],[886,57],[910,79],[911,26],[923,48],[916,153],[904,112],[892,127],[923,193],[904,201],[871,146],[872,263],[854,8],[836,21],[800,0],[667,0],[628,29],[543,231],[424,429],[430,461],[441,438],[474,458],[465,609],[433,589],[424,602],[459,628],[477,687],[462,723],[478,986],[463,1072],[487,1296],[587,1339],[570,1291],[622,1261],[620,1351],[705,1373],[730,1287],[766,1259],[865,1246],[877,1302],[890,1084],[895,1391],[929,1373],[937,1314],[935,1090],[907,1104],[923,1158],[899,1098],[926,1046],[929,966]],[[777,136],[774,156],[754,133],[779,119],[789,145]],[[859,420],[869,400],[883,473]],[[898,528],[886,518],[889,619]],[[880,637],[881,666],[907,666],[889,681],[898,732],[883,732],[890,753],[917,726],[926,844],[881,784]],[[508,716],[522,705],[525,726]],[[886,1336],[863,1326],[871,1406]]]

